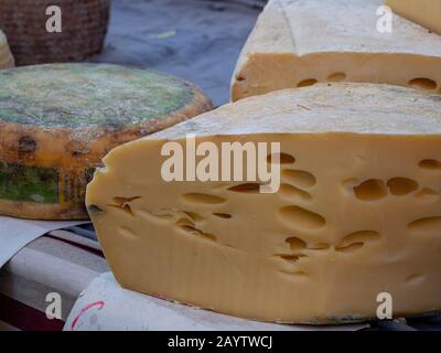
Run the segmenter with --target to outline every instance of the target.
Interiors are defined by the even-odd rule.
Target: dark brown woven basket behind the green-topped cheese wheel
[[[46,31],[46,9],[62,10],[62,32]],[[17,65],[83,61],[101,51],[110,0],[0,0],[0,29]]]

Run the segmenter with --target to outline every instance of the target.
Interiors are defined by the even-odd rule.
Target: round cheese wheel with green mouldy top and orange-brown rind
[[[211,109],[179,78],[107,64],[0,71],[0,214],[87,218],[86,184],[114,147]]]

